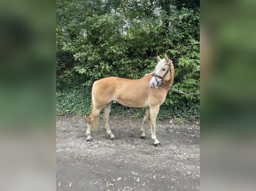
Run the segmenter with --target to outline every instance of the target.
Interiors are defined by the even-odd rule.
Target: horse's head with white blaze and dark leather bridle
[[[165,54],[164,59],[161,59],[157,56],[158,64],[155,67],[153,76],[149,82],[150,88],[157,88],[158,85],[164,84],[171,80],[171,63],[172,61]]]

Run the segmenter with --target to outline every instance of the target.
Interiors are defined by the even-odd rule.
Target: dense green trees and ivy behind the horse
[[[199,32],[199,1],[57,0],[57,114],[89,114],[94,81],[142,78],[154,70],[157,54],[173,61],[172,87],[199,93]],[[138,117],[143,112],[112,105],[116,116]],[[199,99],[169,91],[158,118],[173,116],[200,117]]]

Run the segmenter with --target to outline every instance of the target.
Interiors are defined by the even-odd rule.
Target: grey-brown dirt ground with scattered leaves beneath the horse
[[[87,119],[56,117],[57,191],[200,190],[199,121],[157,122],[162,146],[155,147],[149,122],[140,139],[142,118],[110,116],[114,141],[99,118],[93,142],[86,142]]]

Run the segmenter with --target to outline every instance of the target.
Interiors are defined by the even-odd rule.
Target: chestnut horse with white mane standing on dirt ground
[[[116,140],[109,126],[109,114],[111,104],[116,102],[137,108],[146,108],[141,129],[140,138],[147,139],[145,135],[145,124],[150,116],[151,139],[154,145],[161,146],[155,135],[156,117],[160,105],[164,102],[168,93],[168,88],[173,83],[174,66],[172,61],[165,54],[165,58],[161,59],[157,56],[158,63],[154,72],[146,74],[143,78],[137,80],[129,80],[118,77],[107,77],[95,81],[92,88],[92,112],[88,118],[87,124],[87,141],[91,142],[91,127],[97,131],[98,115],[102,108],[103,120],[107,135],[111,140]],[[165,86],[165,87],[164,87]]]

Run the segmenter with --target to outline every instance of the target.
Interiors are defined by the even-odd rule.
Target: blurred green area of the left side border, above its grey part
[[[55,2],[0,3],[0,126],[55,129]]]

